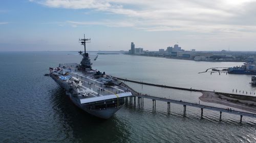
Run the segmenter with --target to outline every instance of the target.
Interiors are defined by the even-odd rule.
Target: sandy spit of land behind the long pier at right
[[[216,92],[202,92],[200,100],[204,102],[226,105],[227,108],[234,107],[256,113],[256,97],[224,94]]]

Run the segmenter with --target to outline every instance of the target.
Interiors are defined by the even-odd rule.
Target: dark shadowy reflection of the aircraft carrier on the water
[[[122,142],[129,134],[125,124],[115,116],[104,120],[74,106],[62,88],[50,94],[54,122],[57,123],[54,125],[64,142]]]

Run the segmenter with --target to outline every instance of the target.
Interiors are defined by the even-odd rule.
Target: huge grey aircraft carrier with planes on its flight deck
[[[124,105],[124,98],[132,93],[123,82],[92,69],[86,52],[86,42],[90,40],[85,36],[79,39],[84,46],[80,64],[59,64],[56,68],[49,68],[50,76],[65,89],[76,106],[98,118],[109,119]]]

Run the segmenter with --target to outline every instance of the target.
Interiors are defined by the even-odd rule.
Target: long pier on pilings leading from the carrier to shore
[[[150,95],[146,95],[146,94],[140,94],[140,93],[136,92],[135,90],[133,90],[132,88],[130,88],[128,85],[124,84],[123,82],[122,82],[122,84],[132,92],[133,96],[127,97],[127,98],[130,98],[130,102],[134,101],[134,103],[136,103],[136,97],[137,97],[138,105],[143,105],[144,98],[151,99],[152,102],[153,102],[153,109],[156,108],[156,101],[162,101],[162,102],[166,102],[167,103],[167,110],[168,111],[170,111],[170,103],[183,105],[184,115],[186,113],[186,107],[187,106],[201,108],[201,119],[203,119],[203,110],[204,109],[213,110],[213,111],[219,111],[220,112],[220,120],[222,118],[222,112],[230,113],[230,114],[233,114],[233,115],[240,115],[240,122],[242,122],[243,116],[256,118],[256,114],[250,113],[250,112],[230,110],[230,109],[226,109],[226,108],[208,106],[208,105],[191,103],[191,102],[184,102],[182,100],[174,100],[174,99],[167,99],[167,98],[163,98],[163,97],[157,97],[157,96],[150,96]]]

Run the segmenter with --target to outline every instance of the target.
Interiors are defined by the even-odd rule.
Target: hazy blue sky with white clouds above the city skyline
[[[256,50],[256,1],[8,0],[0,3],[0,51]]]

